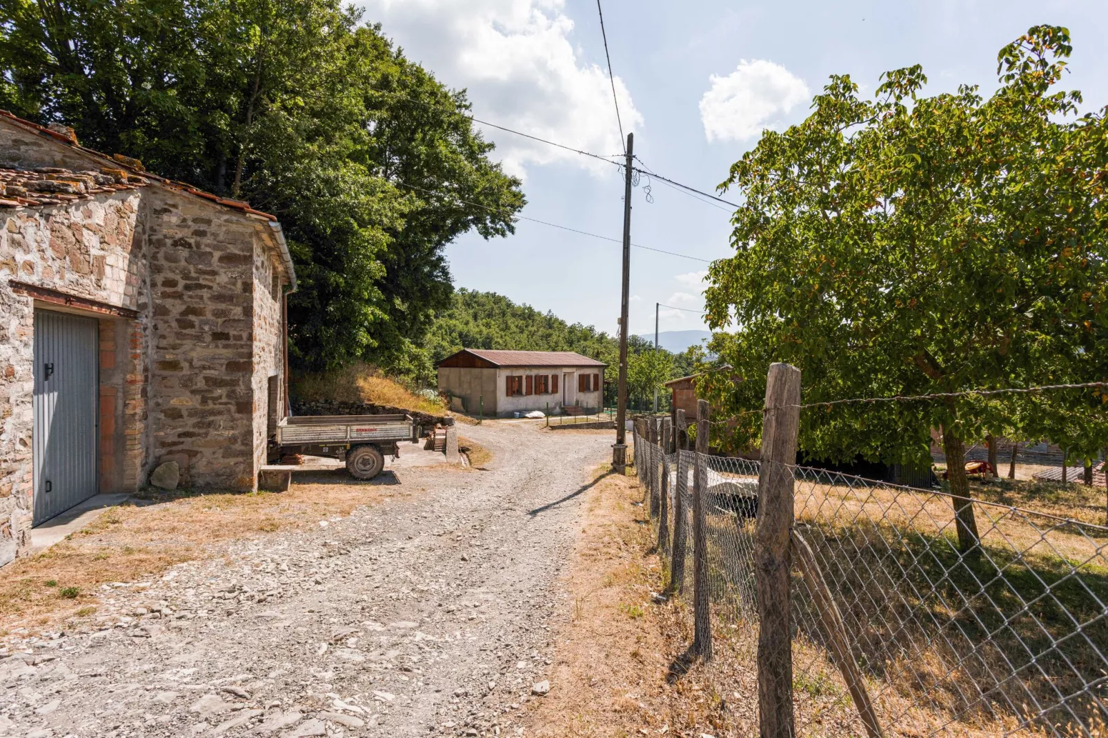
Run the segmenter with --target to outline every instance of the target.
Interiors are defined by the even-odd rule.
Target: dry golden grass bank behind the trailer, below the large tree
[[[293,393],[308,402],[369,402],[432,416],[441,416],[447,411],[447,406],[441,400],[416,394],[403,383],[383,376],[379,369],[365,362],[334,371],[305,375],[293,382]]]

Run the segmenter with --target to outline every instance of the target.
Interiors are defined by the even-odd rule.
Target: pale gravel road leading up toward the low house
[[[18,644],[0,736],[522,735],[612,433],[461,430],[488,471],[383,474],[380,505],[117,586],[98,613],[117,615]]]

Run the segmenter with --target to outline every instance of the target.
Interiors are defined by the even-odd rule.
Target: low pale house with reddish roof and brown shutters
[[[462,349],[437,366],[439,391],[471,416],[596,412],[604,406],[607,365],[574,351]]]

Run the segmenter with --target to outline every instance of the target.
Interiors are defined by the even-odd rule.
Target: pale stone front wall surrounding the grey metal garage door
[[[0,147],[0,161],[4,156],[6,147]],[[33,510],[35,303],[18,294],[10,280],[140,311],[148,309],[148,294],[140,191],[98,195],[68,205],[0,211],[0,564],[3,564],[16,551],[25,551]],[[40,307],[59,309],[50,304]],[[145,452],[142,390],[137,383],[144,357],[141,341],[133,350],[130,345],[131,327],[136,321],[91,315],[101,320],[100,445],[102,452],[109,453],[107,464],[101,459],[101,485],[114,490],[130,483],[130,489],[134,489],[137,479],[134,473],[129,475],[127,470],[133,470]],[[125,340],[121,344],[120,338]],[[125,435],[132,428],[135,433]]]

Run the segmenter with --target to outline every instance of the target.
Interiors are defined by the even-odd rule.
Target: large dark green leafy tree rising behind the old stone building
[[[425,370],[443,247],[524,203],[464,93],[340,0],[0,0],[0,106],[276,214],[308,368]]]

